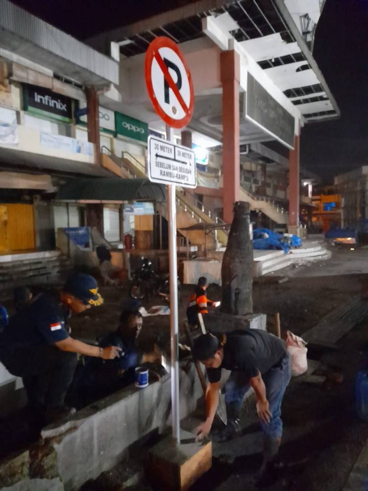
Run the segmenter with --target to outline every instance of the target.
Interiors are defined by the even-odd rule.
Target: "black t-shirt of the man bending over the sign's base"
[[[259,329],[248,329],[237,334],[228,334],[224,345],[224,358],[218,368],[208,368],[210,383],[221,379],[221,369],[244,372],[249,378],[258,372],[266,373],[286,355],[282,339]]]

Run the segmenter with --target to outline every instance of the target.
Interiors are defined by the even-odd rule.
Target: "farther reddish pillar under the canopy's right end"
[[[300,133],[300,132],[299,132]],[[300,152],[299,135],[294,135],[294,150],[289,151],[289,234],[299,236]]]

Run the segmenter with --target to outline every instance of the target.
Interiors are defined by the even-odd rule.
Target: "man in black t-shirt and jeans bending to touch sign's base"
[[[263,463],[259,471],[259,477],[264,479],[281,443],[281,403],[291,377],[285,342],[259,329],[229,333],[221,339],[207,333],[194,340],[192,354],[205,365],[209,378],[207,417],[197,428],[198,438],[210,432],[219,400],[221,369],[231,370],[225,386],[227,425],[217,440],[226,441],[238,433],[243,397],[252,387],[264,435]]]

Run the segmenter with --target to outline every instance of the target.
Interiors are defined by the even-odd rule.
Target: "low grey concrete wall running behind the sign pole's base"
[[[196,408],[202,388],[194,364],[183,361],[180,366],[180,415],[184,418]],[[132,443],[154,430],[161,432],[170,422],[169,375],[144,389],[129,386],[82,409],[61,426],[46,427],[29,452],[32,471],[28,476],[23,473],[12,486],[29,478],[32,484],[35,479],[60,478],[66,491],[78,490],[85,481],[122,460]],[[16,475],[16,470],[12,474]]]

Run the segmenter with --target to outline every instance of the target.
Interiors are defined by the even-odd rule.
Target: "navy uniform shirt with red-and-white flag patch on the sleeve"
[[[42,294],[10,318],[9,325],[0,335],[0,347],[12,349],[62,341],[69,337],[66,326],[69,317],[70,311],[57,297]]]

